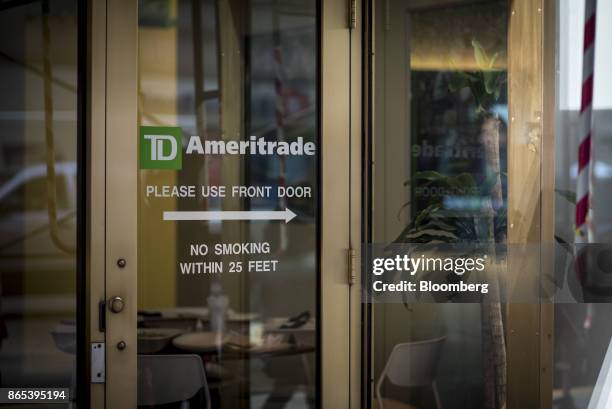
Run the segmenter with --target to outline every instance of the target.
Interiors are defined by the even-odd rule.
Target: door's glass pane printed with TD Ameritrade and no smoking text
[[[139,404],[312,407],[317,3],[139,5]]]

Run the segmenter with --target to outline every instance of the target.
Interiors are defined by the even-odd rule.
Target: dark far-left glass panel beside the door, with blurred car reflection
[[[0,387],[74,398],[77,2],[1,9]]]

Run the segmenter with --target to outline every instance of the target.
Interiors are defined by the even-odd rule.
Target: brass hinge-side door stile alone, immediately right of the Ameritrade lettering
[[[321,271],[323,408],[350,402],[350,39],[346,1],[321,1]]]

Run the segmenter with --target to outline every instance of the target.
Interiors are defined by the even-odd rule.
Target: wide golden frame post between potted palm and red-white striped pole
[[[556,7],[510,2],[508,33],[508,243],[554,243]],[[519,96],[518,98],[514,96]],[[512,126],[512,124],[518,126]],[[514,143],[512,141],[514,140]],[[512,177],[514,175],[514,177]],[[528,271],[552,271],[546,253]],[[510,257],[509,271],[523,261]],[[513,267],[514,266],[514,267]],[[550,286],[540,274],[534,287]],[[552,406],[554,305],[507,307],[508,409]]]

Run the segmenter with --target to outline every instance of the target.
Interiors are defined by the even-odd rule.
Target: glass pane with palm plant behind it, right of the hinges
[[[508,3],[373,2],[373,243],[505,242]],[[502,407],[499,304],[371,308],[372,407]]]

